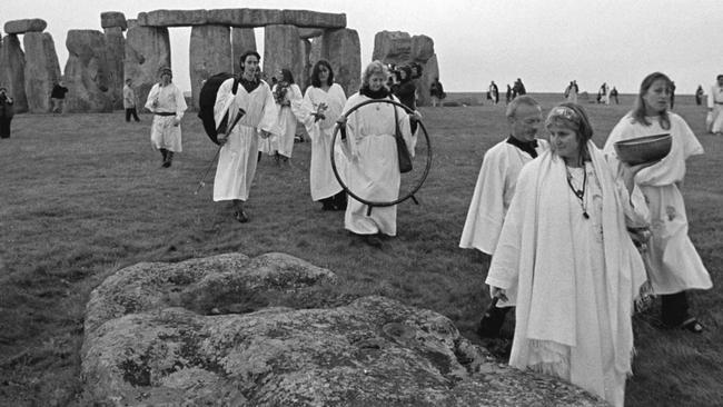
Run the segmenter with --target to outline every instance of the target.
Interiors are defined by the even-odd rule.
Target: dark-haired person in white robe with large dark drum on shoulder
[[[244,202],[256,175],[259,135],[268,138],[276,130],[271,89],[256,75],[259,61],[260,56],[255,51],[241,54],[242,73],[236,93],[232,92],[235,78],[227,79],[219,87],[214,106],[217,128],[227,123],[227,133],[218,137],[222,147],[214,180],[214,201],[234,201],[234,218],[239,222],[249,220]]]

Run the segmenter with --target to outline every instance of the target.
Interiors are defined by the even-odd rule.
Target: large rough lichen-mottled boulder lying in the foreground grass
[[[266,307],[261,300],[251,306],[248,298],[335,280],[331,271],[281,254],[120,270],[88,304],[82,403],[605,405],[571,385],[496,363],[434,311],[384,297],[311,309]],[[217,298],[234,297],[248,309],[217,315]]]

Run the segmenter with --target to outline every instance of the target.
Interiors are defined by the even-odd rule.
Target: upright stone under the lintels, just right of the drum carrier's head
[[[294,81],[304,76],[299,58],[299,29],[296,26],[266,26],[264,28],[264,72],[269,77],[286,68]]]

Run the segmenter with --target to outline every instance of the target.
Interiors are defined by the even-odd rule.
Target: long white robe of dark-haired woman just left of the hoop
[[[326,119],[315,122],[311,113],[317,111],[320,103],[326,103],[328,107],[324,112]],[[333,83],[328,92],[321,88],[309,87],[306,89],[300,109],[297,111],[297,118],[304,123],[311,139],[309,186],[311,188],[313,200],[328,198],[341,191],[341,186],[331,169],[330,153],[334,125],[336,123],[336,119],[341,115],[344,103],[346,103],[346,96],[344,95],[344,89],[338,83]],[[337,140],[339,136],[337,135]],[[347,162],[340,146],[337,141],[334,162],[344,180],[346,179]]]

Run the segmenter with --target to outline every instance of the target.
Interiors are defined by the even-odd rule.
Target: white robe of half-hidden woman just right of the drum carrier
[[[275,92],[278,85],[274,85],[271,92]],[[258,150],[269,156],[275,155],[277,151],[284,157],[291,158],[294,151],[294,136],[296,136],[296,116],[294,110],[298,110],[298,105],[301,102],[301,89],[298,85],[291,83],[284,96],[284,100],[288,101],[288,106],[276,103],[277,130],[266,139],[259,139]]]

